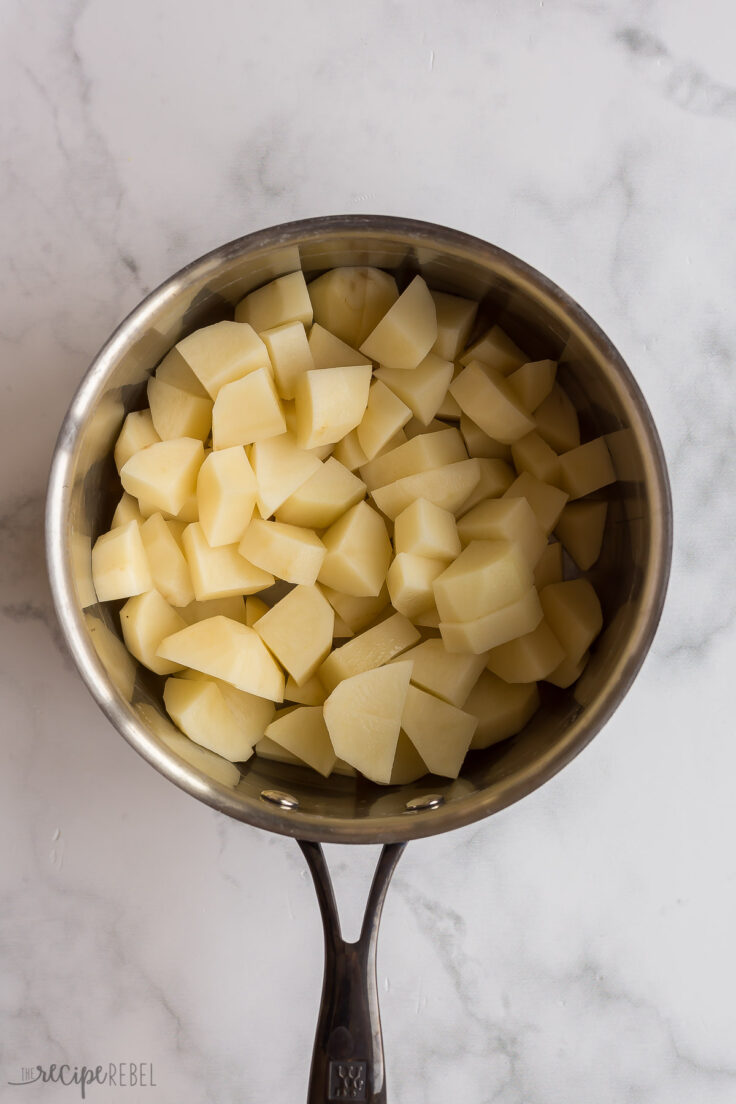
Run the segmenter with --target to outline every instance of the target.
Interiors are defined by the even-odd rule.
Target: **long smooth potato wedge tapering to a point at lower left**
[[[159,657],[212,675],[238,690],[284,701],[284,672],[258,634],[227,617],[210,617],[161,641]]]

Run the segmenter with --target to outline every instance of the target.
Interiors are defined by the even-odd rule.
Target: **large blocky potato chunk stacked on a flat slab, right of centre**
[[[510,541],[472,541],[434,583],[444,622],[482,617],[516,602],[531,586],[529,563]]]

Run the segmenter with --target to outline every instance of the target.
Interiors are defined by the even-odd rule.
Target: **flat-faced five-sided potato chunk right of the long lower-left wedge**
[[[317,586],[295,586],[255,629],[298,686],[316,673],[332,647],[334,611]],[[274,737],[276,739],[276,737]]]

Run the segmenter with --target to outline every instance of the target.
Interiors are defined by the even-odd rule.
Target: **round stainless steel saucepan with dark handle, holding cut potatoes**
[[[163,354],[200,326],[232,317],[250,289],[299,267],[390,269],[480,301],[479,328],[499,321],[530,355],[561,362],[583,429],[606,434],[617,470],[604,552],[591,573],[605,629],[578,683],[550,688],[513,740],[471,754],[457,782],[401,787],[252,760],[237,784],[169,749],[162,680],[136,669],[117,616],[96,601],[90,546],[109,528],[119,484],[111,448],[127,411],[145,405]],[[471,824],[530,794],[568,763],[621,702],[647,655],[669,576],[672,510],[662,449],[631,372],[585,311],[529,265],[478,238],[405,219],[344,215],[275,226],[231,242],[177,273],[118,327],[84,376],[62,425],[46,503],[46,552],[56,612],[88,689],[136,751],[188,793],[258,828],[296,837],[314,878],[326,974],[309,1101],[385,1101],[375,989],[383,898],[403,845]],[[319,841],[387,845],[361,941],[345,944]]]

